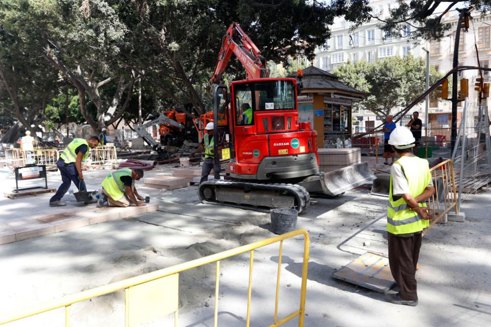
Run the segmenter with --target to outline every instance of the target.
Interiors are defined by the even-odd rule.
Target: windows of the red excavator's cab
[[[254,112],[294,110],[295,85],[289,80],[265,80],[234,85],[236,125],[253,125]]]

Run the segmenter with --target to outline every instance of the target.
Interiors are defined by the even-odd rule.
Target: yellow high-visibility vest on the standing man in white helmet
[[[415,198],[428,186],[431,173],[428,160],[416,156],[403,156],[394,165],[400,165],[409,184],[409,192]],[[426,203],[418,203],[426,207]],[[392,196],[392,175],[390,176],[389,205],[387,207],[387,231],[391,234],[410,234],[422,231],[429,221],[409,209],[403,198],[394,200]]]

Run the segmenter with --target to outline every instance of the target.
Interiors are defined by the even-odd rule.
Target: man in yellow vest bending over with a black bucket
[[[85,183],[83,182],[82,161],[89,155],[89,148],[96,148],[99,144],[97,136],[92,136],[87,141],[84,139],[74,139],[61,152],[56,167],[61,174],[61,185],[58,187],[55,195],[50,199],[50,206],[65,206],[66,203],[61,202],[61,198],[70,188],[73,182],[79,191],[85,191]],[[81,183],[83,182],[83,183]],[[82,189],[80,186],[82,185]],[[95,203],[95,199],[86,201],[85,204]]]

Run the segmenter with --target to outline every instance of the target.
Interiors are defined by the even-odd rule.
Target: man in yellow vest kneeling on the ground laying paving
[[[127,207],[130,205],[130,201],[135,203],[136,206],[145,205],[145,203],[136,201],[136,198],[140,201],[143,200],[143,197],[138,194],[135,188],[135,180],[139,180],[141,177],[143,177],[141,169],[123,168],[109,174],[102,182],[102,195],[99,198],[99,206],[102,207],[105,201],[108,201],[108,205],[118,207]],[[128,201],[127,197],[130,201]]]

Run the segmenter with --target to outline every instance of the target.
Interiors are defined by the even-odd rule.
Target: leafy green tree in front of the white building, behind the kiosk
[[[409,105],[414,101],[414,95],[425,92],[426,62],[412,55],[388,57],[372,63],[363,60],[342,65],[333,74],[341,82],[368,94],[356,106],[372,111],[384,121],[392,109]],[[430,67],[430,84],[442,76]]]

